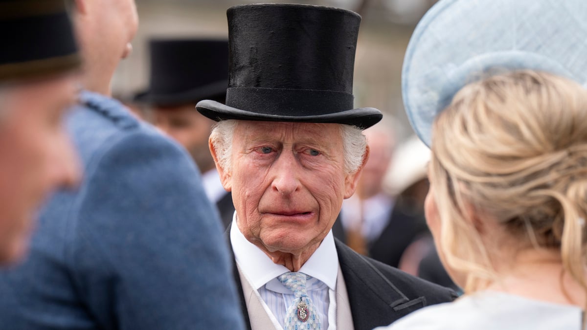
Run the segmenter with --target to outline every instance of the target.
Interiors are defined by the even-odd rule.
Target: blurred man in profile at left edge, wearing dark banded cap
[[[46,43],[46,40],[59,42]],[[36,209],[80,171],[62,116],[80,60],[63,0],[0,2],[0,264],[26,252]],[[42,45],[42,46],[41,46]]]

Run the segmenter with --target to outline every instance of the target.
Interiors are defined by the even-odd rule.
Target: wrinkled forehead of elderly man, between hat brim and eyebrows
[[[235,138],[242,140],[316,140],[316,142],[337,142],[342,140],[340,124],[261,122],[239,120]]]

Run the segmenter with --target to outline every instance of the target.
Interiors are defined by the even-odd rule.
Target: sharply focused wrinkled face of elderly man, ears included
[[[338,124],[239,121],[231,156],[220,174],[238,228],[269,252],[313,252],[359,176],[345,174]]]

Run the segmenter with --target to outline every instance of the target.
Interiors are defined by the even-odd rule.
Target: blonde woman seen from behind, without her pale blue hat
[[[432,141],[427,223],[466,295],[390,329],[579,329],[587,90],[529,70],[492,76],[457,93]]]

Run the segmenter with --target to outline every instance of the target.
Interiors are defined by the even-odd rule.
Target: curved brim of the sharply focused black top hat
[[[357,126],[366,129],[379,122],[383,115],[373,107],[361,107],[325,115],[312,116],[283,116],[268,115],[265,113],[250,112],[235,107],[223,105],[212,100],[202,100],[195,108],[202,115],[220,122],[220,120],[257,120],[263,122],[296,122],[296,123],[335,123]]]

